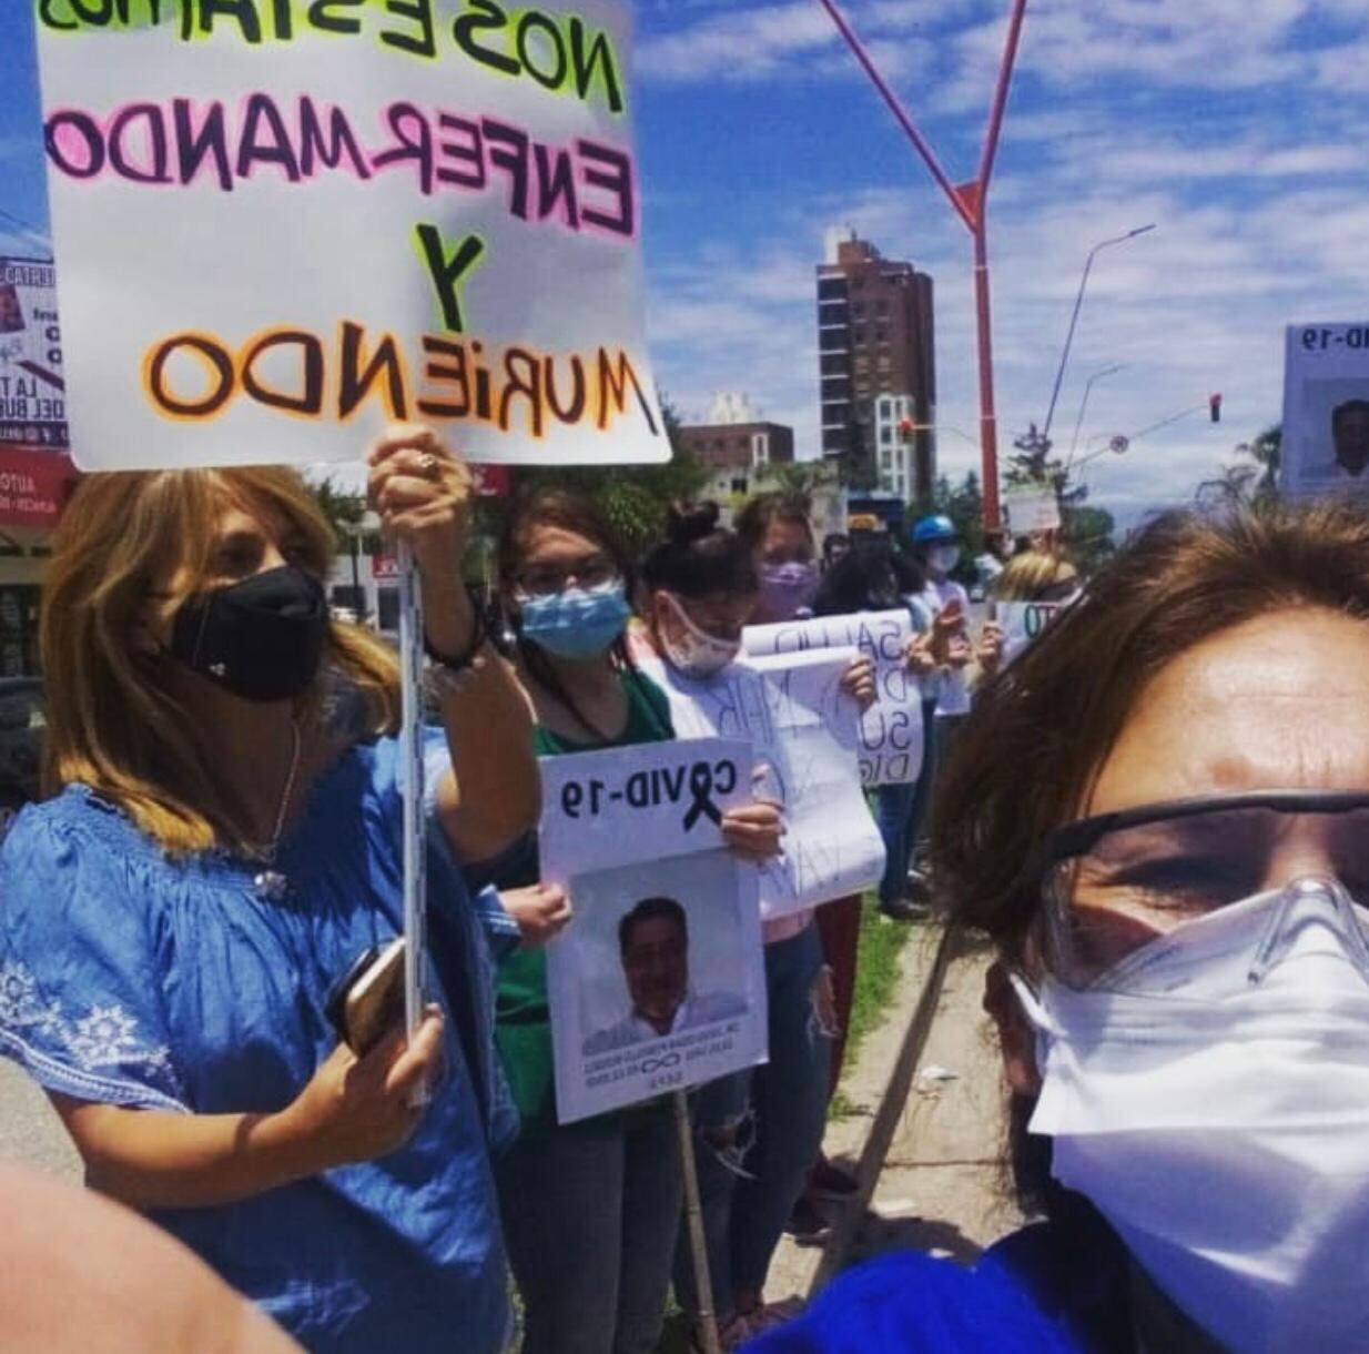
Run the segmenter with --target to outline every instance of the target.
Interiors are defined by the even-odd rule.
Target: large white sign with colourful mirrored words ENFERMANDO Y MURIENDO
[[[84,468],[667,460],[626,0],[41,0]]]

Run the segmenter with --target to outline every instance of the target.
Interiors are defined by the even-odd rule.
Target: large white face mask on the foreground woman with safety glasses
[[[1014,978],[1053,1175],[1235,1354],[1369,1349],[1366,924],[1299,880],[1083,991]]]

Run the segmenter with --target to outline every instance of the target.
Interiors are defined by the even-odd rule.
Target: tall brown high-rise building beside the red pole
[[[823,455],[864,450],[880,487],[906,501],[930,496],[936,479],[932,314],[925,272],[880,257],[852,230],[828,240],[828,259],[817,267]],[[884,405],[886,416],[879,416],[882,396],[902,400],[902,412],[895,416]]]

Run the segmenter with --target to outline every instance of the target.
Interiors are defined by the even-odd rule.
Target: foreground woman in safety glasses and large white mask
[[[986,689],[938,878],[1049,1221],[758,1354],[1369,1349],[1366,617],[1362,509],[1177,516]]]

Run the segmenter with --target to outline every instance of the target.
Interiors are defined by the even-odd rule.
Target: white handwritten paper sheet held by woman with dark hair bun
[[[780,917],[878,883],[884,843],[861,793],[860,711],[841,690],[854,649],[746,659],[694,680],[643,663],[680,738],[747,738],[784,810],[784,852],[761,867],[761,916]]]

